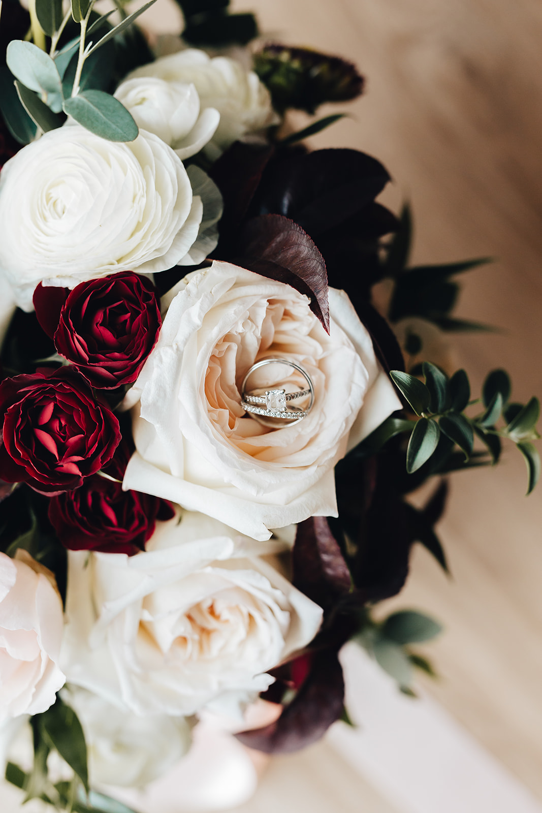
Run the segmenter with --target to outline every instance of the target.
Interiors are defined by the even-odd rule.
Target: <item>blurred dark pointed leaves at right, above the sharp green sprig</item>
[[[380,266],[381,277],[390,278],[395,283],[388,320],[394,324],[407,316],[418,316],[445,331],[493,330],[488,325],[451,315],[459,294],[459,285],[451,278],[491,260],[467,259],[459,263],[408,267],[412,233],[412,215],[406,204],[399,228],[386,246]]]

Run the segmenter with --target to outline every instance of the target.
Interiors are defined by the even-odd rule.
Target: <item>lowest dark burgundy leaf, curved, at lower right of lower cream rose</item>
[[[337,654],[323,650],[314,654],[309,675],[279,719],[236,737],[243,745],[266,754],[291,754],[323,737],[340,719],[344,702],[345,682]]]

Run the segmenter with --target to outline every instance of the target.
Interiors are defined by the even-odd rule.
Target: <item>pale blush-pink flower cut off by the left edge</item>
[[[59,668],[62,599],[53,574],[25,550],[0,553],[0,722],[40,714],[66,680]]]

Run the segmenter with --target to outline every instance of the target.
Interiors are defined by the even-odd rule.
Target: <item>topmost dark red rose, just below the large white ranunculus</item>
[[[81,282],[72,291],[40,284],[34,307],[59,354],[98,389],[137,379],[162,324],[154,285],[132,271]]]

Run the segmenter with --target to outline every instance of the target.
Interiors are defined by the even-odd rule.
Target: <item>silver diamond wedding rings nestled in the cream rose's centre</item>
[[[284,375],[283,373],[280,380],[288,378],[292,375],[292,372],[299,373],[305,384],[304,389],[295,389],[289,393],[286,392],[284,387],[277,385],[273,385],[272,387],[260,385],[259,387],[255,386],[254,388],[246,389],[249,378],[253,377],[254,373],[258,370],[261,371],[262,367],[267,367],[270,364],[289,367],[286,374]],[[256,384],[257,377],[258,376],[254,376],[254,384]],[[303,367],[300,367],[299,364],[288,361],[288,359],[262,359],[262,361],[253,364],[249,372],[247,372],[241,386],[241,399],[241,406],[246,412],[249,412],[255,420],[258,420],[260,424],[264,424],[265,426],[276,428],[280,426],[281,421],[285,420],[288,421],[288,424],[297,424],[308,415],[314,403],[314,386],[308,372],[306,372]],[[288,404],[296,400],[300,400],[301,402],[308,400],[308,403],[302,404],[302,408],[301,406],[288,408]],[[272,420],[270,421],[268,419]],[[277,420],[279,421],[278,424],[276,422]]]

